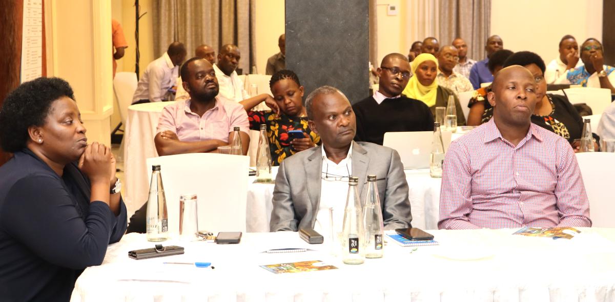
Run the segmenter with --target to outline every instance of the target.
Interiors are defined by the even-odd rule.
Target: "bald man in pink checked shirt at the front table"
[[[592,226],[573,149],[530,122],[535,89],[522,66],[496,74],[493,118],[446,152],[438,228]]]

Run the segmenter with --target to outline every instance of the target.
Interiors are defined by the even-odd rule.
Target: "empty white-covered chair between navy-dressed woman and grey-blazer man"
[[[148,158],[143,172],[161,165],[171,234],[179,232],[182,194],[197,194],[199,230],[245,232],[248,164],[247,156],[189,153]]]

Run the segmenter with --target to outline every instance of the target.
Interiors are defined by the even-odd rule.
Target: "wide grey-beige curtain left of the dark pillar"
[[[235,44],[241,52],[239,66],[250,73],[256,57],[254,0],[154,0],[154,55],[160,57],[173,41],[188,50],[207,44],[216,50]]]

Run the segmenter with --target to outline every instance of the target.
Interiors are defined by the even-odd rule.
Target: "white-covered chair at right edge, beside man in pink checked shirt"
[[[610,191],[615,171],[615,153],[585,152],[576,154],[589,199],[592,226],[615,228],[615,203]]]

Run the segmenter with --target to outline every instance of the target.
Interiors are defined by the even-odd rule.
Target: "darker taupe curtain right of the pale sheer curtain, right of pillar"
[[[467,43],[467,57],[483,60],[490,35],[491,0],[438,0],[440,3],[440,46],[456,38]],[[496,33],[497,34],[497,33]]]

